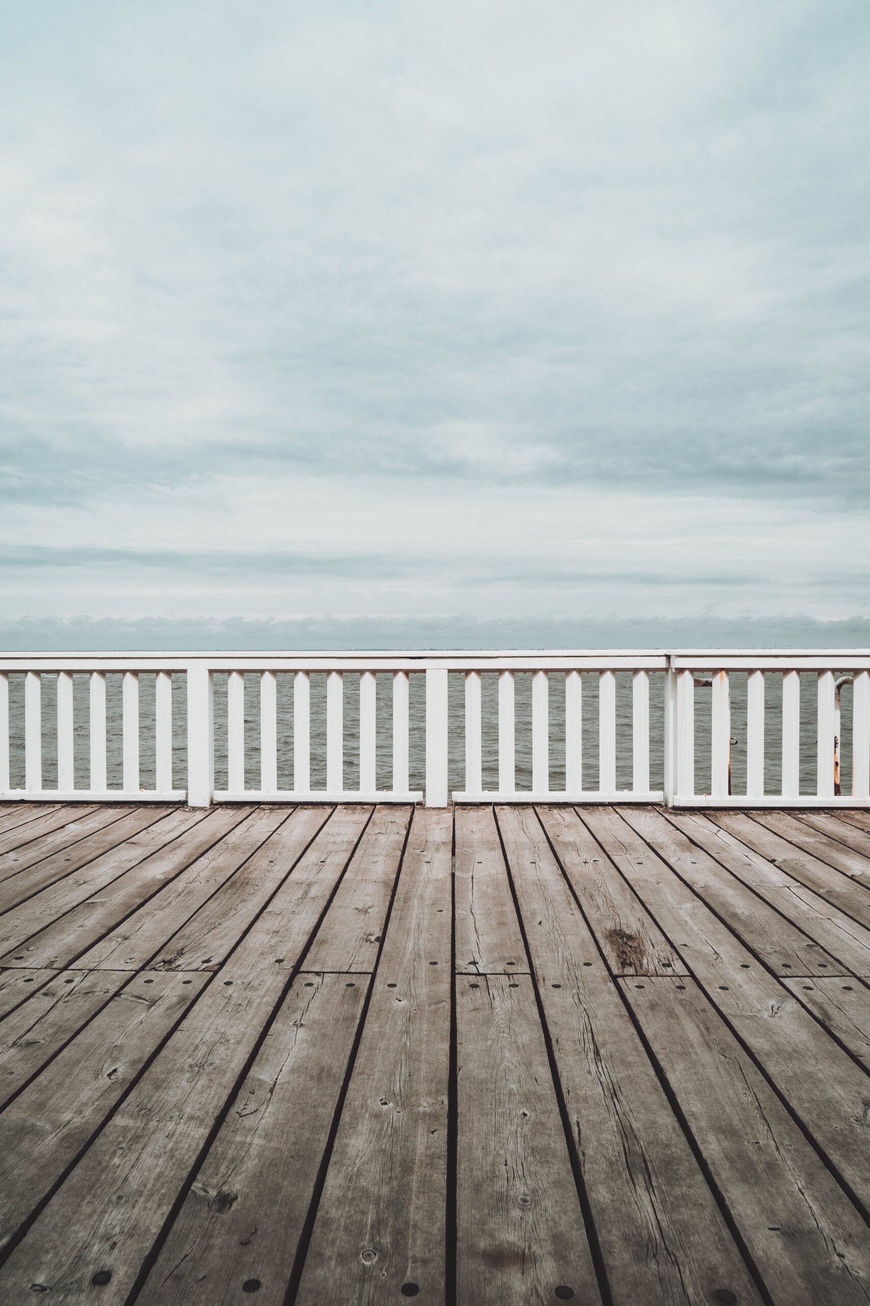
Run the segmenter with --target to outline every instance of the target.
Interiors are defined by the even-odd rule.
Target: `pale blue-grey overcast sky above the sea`
[[[12,0],[5,619],[870,615],[866,0]]]

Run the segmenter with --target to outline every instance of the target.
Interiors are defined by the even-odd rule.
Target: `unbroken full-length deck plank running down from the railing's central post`
[[[297,1303],[445,1299],[453,821],[417,810]]]

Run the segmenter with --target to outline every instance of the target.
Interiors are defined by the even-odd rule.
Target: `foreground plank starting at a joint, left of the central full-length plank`
[[[344,976],[296,977],[140,1306],[237,1302],[254,1281],[258,1302],[283,1303],[367,989],[363,977],[352,987]]]

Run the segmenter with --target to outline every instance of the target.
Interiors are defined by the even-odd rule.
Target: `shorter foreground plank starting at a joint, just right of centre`
[[[457,1077],[458,1306],[600,1302],[530,976],[457,977]]]

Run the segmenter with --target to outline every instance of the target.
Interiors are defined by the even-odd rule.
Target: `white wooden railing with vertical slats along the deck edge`
[[[484,712],[483,680],[497,677],[494,718]],[[89,678],[86,729],[76,725],[73,677]],[[106,678],[121,679],[120,788],[107,784]],[[176,692],[183,683],[184,693]],[[325,709],[312,722],[312,675],[326,679]],[[449,695],[450,677],[464,679],[464,713]],[[531,765],[518,788],[517,677],[531,675]],[[745,712],[741,724],[745,748],[745,791],[732,791],[730,678],[742,677]],[[140,679],[154,680],[153,720],[142,722]],[[291,713],[278,710],[278,678],[292,677]],[[801,683],[814,677],[815,721],[801,721]],[[10,683],[23,682],[22,710],[10,717]],[[56,686],[56,720],[46,722],[43,683]],[[245,717],[245,682],[258,679],[258,720]],[[378,720],[378,678],[391,680],[391,744],[385,743]],[[617,678],[623,682],[617,712]],[[625,693],[630,678],[630,712]],[[766,686],[781,683],[781,714],[766,708]],[[411,699],[423,696],[420,765],[424,789],[411,788]],[[215,731],[215,682],[226,683],[226,721]],[[353,686],[359,731],[347,788],[344,687]],[[840,690],[852,686],[850,793],[839,793]],[[359,684],[359,699],[356,697]],[[553,699],[552,690],[558,687]],[[588,688],[584,690],[584,686]],[[651,692],[655,690],[655,692]],[[591,692],[590,692],[591,691]],[[702,693],[700,703],[698,693]],[[16,691],[20,693],[20,691]],[[597,700],[591,729],[586,725],[584,693]],[[741,687],[741,693],[743,690]],[[706,696],[710,695],[710,705]],[[776,690],[779,699],[780,690]],[[18,700],[16,700],[18,701]],[[150,703],[150,690],[149,690]],[[383,699],[381,699],[383,703]],[[357,707],[359,705],[359,707]],[[81,700],[80,700],[81,708]],[[173,722],[176,738],[187,717],[187,761],[176,759],[176,773],[187,769],[185,788],[173,788]],[[314,731],[312,730],[314,725]],[[12,726],[12,737],[10,737]],[[226,730],[224,730],[226,726]],[[806,751],[815,733],[815,780],[806,780]],[[154,788],[142,789],[140,746],[142,730],[153,756]],[[18,739],[16,731],[22,734]],[[226,739],[226,789],[215,789],[215,738]],[[312,786],[313,734],[325,743],[322,786]],[[698,735],[708,750],[707,793],[695,788]],[[766,739],[775,737],[781,750],[777,781],[766,788]],[[597,737],[597,755],[590,759],[590,738]],[[464,741],[464,780],[450,786],[453,771],[462,772],[458,742]],[[484,757],[484,738],[496,739],[497,757]],[[13,756],[23,755],[23,784],[10,785]],[[655,759],[652,757],[655,744]],[[279,788],[280,756],[292,756],[292,785]],[[383,774],[383,751],[390,751],[390,782],[377,788]],[[17,750],[17,752],[16,752]],[[87,784],[76,785],[82,751],[87,756]],[[256,756],[252,752],[256,751]],[[770,750],[768,750],[770,751]],[[524,756],[524,755],[523,755]],[[742,755],[741,755],[742,756]],[[43,764],[56,763],[56,785],[43,785]],[[586,771],[593,781],[584,782]],[[768,757],[768,763],[770,763]],[[801,761],[803,760],[803,782]],[[651,786],[655,761],[660,788]],[[704,767],[706,767],[704,761]],[[223,767],[223,760],[222,760]],[[21,769],[21,768],[20,768]],[[768,772],[771,767],[768,765]],[[622,776],[623,786],[617,788]],[[630,776],[630,781],[629,781]],[[421,777],[421,778],[423,778]],[[489,777],[485,788],[484,780]],[[552,777],[557,777],[552,785]],[[247,788],[248,786],[248,788]],[[805,791],[802,793],[801,789]],[[209,806],[211,802],[417,802],[445,806],[453,797],[462,803],[667,803],[674,806],[811,807],[870,804],[870,653],[856,652],[616,652],[616,653],[297,653],[297,654],[0,654],[0,801],[155,801]]]

